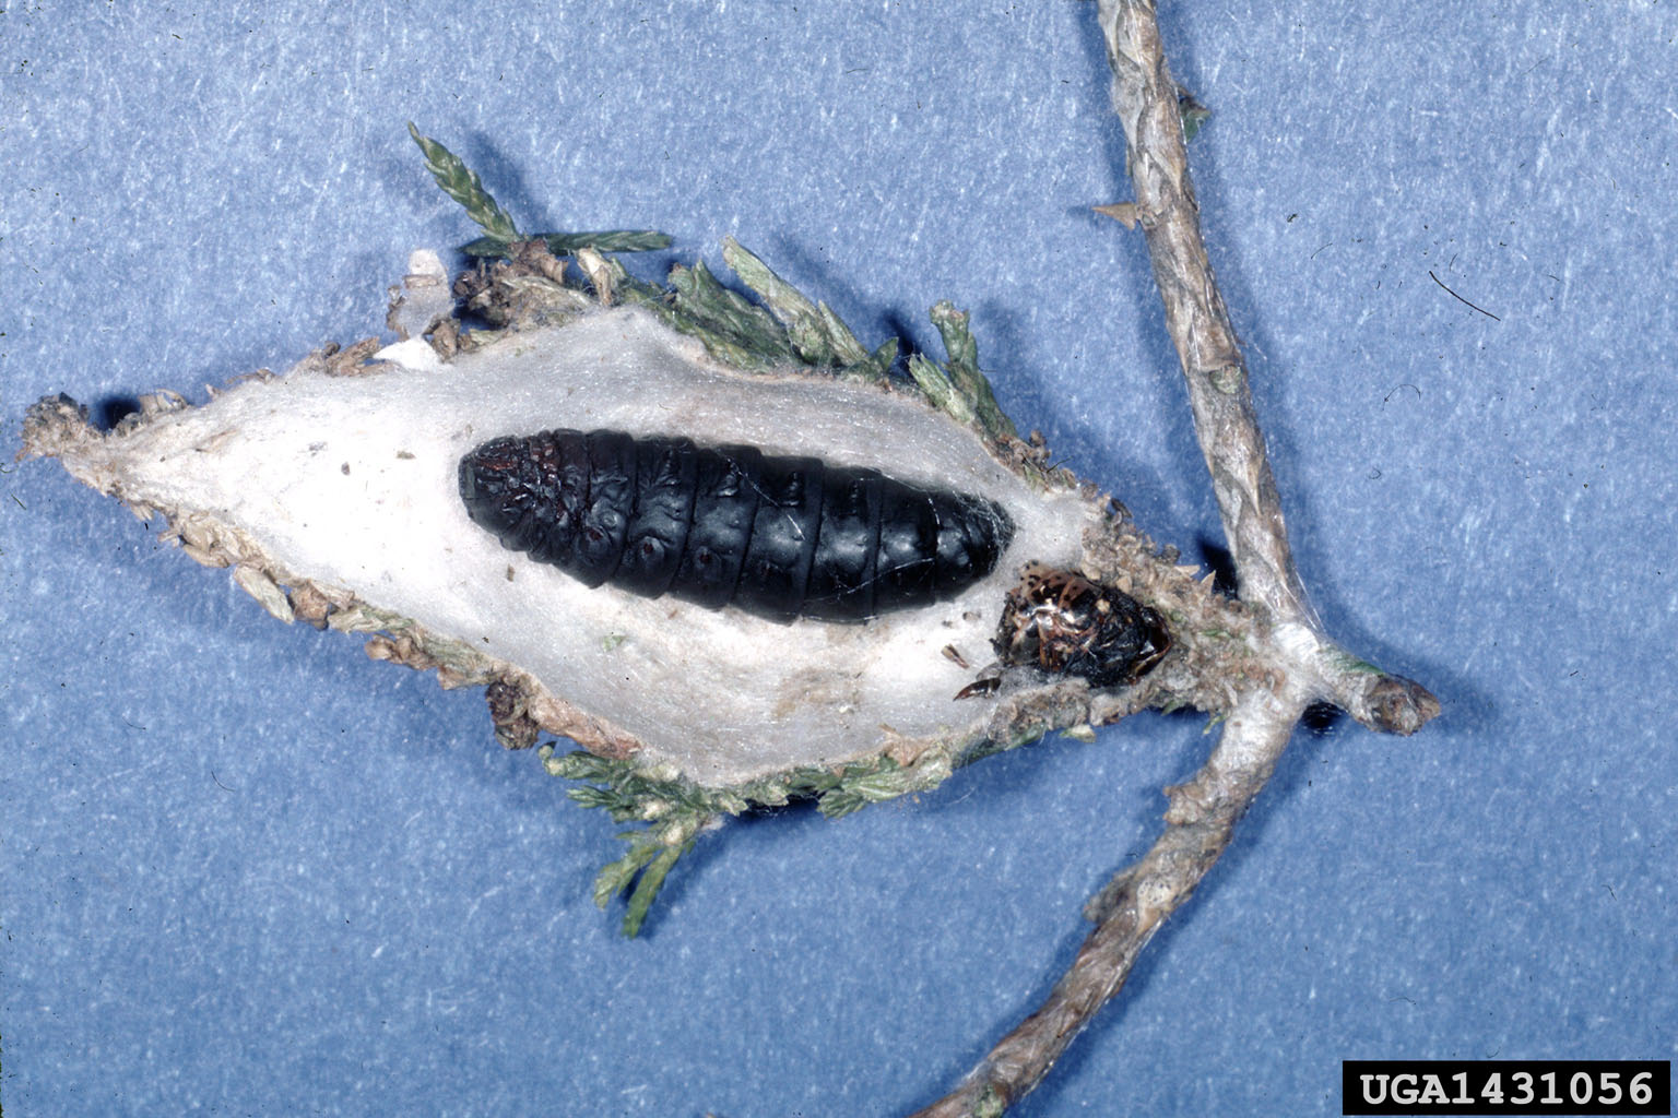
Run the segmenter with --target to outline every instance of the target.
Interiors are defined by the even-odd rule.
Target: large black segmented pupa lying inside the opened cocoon
[[[856,622],[953,598],[1014,521],[876,469],[621,431],[492,439],[460,461],[472,520],[587,587],[779,620]]]

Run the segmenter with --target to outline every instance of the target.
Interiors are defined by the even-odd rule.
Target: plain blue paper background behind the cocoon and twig
[[[735,235],[869,345],[973,312],[1003,406],[1220,540],[1089,3],[131,3],[0,13],[0,454],[383,325],[473,235]],[[1165,13],[1295,555],[1436,691],[1300,731],[1019,1108],[1339,1113],[1344,1058],[1671,1058],[1678,99],[1668,5]],[[663,265],[643,275],[661,272]],[[1431,277],[1430,277],[1431,273]],[[1492,312],[1451,298],[1440,283]],[[643,939],[614,826],[478,692],[280,627],[54,464],[0,496],[0,1103],[15,1115],[889,1115],[946,1090],[1151,843],[1198,716],[841,823],[730,826]]]

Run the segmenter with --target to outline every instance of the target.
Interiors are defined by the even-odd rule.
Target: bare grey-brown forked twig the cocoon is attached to
[[[1166,830],[1153,848],[1089,900],[1096,930],[1049,999],[916,1118],[995,1116],[1037,1086],[1228,846],[1311,702],[1334,702],[1371,729],[1399,734],[1440,712],[1420,684],[1336,647],[1305,607],[1247,365],[1200,236],[1178,87],[1166,72],[1153,0],[1101,0],[1099,18],[1136,191],[1133,204],[1107,211],[1133,216],[1148,238],[1242,600],[1269,615],[1264,660],[1274,670],[1265,686],[1242,692],[1206,764],[1166,789]]]

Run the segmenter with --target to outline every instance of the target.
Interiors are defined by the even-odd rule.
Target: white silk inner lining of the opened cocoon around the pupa
[[[977,738],[995,699],[955,694],[993,659],[1005,592],[1029,560],[1076,568],[1094,518],[1091,501],[1030,486],[909,394],[737,372],[641,310],[594,310],[446,364],[418,340],[381,357],[361,375],[300,367],[247,380],[55,453],[131,505],[232,530],[289,585],[352,595],[529,675],[701,784]],[[1014,541],[960,598],[866,624],[777,624],[591,590],[502,548],[458,493],[470,449],[554,427],[873,466],[1000,503]]]

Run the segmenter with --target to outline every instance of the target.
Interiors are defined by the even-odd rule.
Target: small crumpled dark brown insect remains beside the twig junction
[[[1163,660],[1171,630],[1158,610],[1121,590],[1029,563],[1002,605],[995,645],[1003,664],[1114,687],[1134,684]]]

